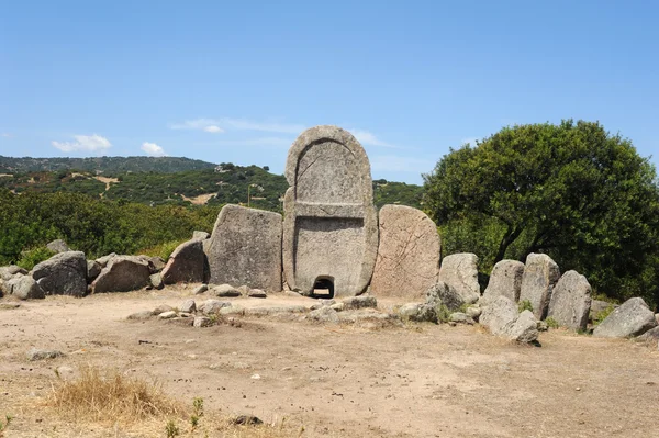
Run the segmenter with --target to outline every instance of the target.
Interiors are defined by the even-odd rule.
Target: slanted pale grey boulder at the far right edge
[[[626,338],[639,336],[657,326],[655,313],[643,299],[625,301],[597,325],[593,336],[600,338]]]

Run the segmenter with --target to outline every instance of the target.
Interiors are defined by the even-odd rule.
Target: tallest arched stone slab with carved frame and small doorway
[[[378,251],[368,157],[337,126],[304,131],[289,150],[283,223],[283,271],[292,290],[311,294],[330,282],[335,296],[362,293]]]

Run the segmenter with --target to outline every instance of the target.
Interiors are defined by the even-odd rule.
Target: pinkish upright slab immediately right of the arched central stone
[[[372,293],[423,297],[439,276],[437,225],[420,210],[384,205],[379,213],[379,231]]]

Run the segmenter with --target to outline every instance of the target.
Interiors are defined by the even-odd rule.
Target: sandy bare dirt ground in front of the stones
[[[92,364],[157,378],[176,398],[203,397],[209,409],[286,418],[304,427],[303,437],[659,437],[656,345],[550,330],[541,347],[521,346],[479,326],[125,319],[176,306],[192,289],[51,296],[0,310],[0,417],[14,416],[5,436],[165,436],[85,429],[38,405],[56,369],[66,378]],[[233,300],[313,304],[286,294]],[[32,347],[66,356],[30,362]]]

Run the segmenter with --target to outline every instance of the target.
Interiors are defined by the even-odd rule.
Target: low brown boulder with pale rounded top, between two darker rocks
[[[147,261],[135,256],[115,256],[91,283],[91,288],[93,293],[135,291],[148,285],[149,277]]]

